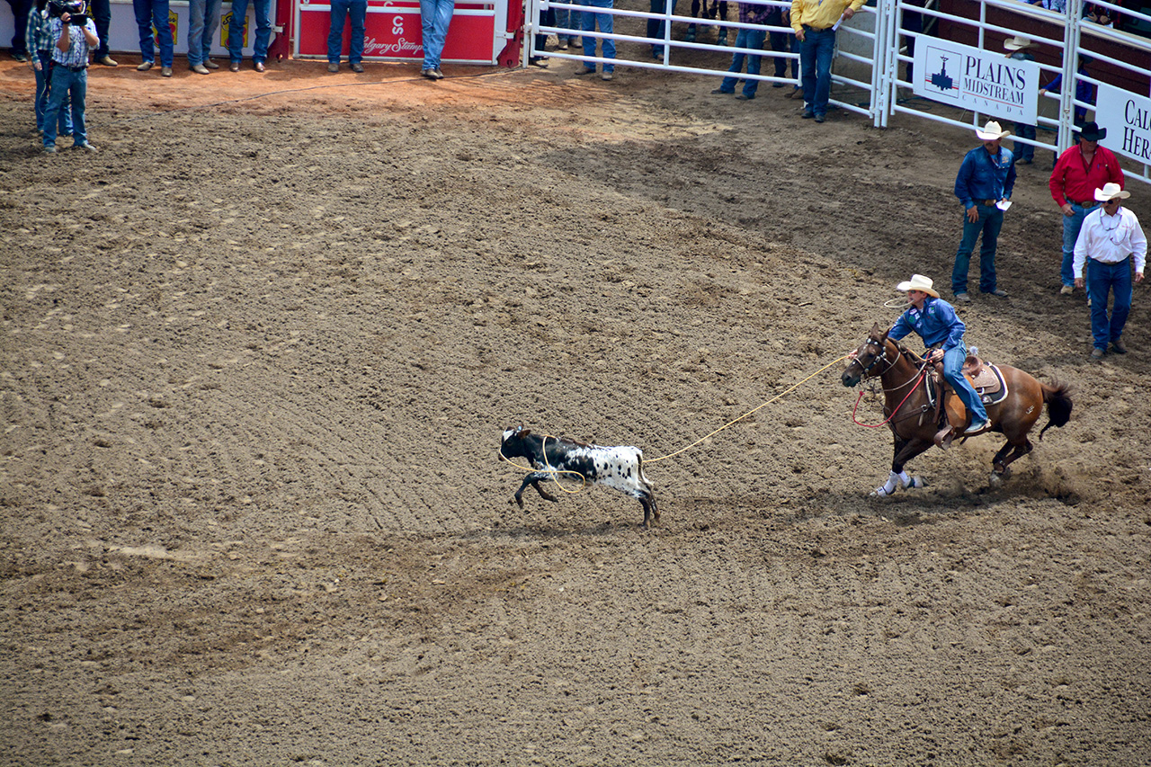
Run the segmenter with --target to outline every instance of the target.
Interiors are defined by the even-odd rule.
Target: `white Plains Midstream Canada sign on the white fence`
[[[1009,59],[994,51],[921,37],[915,46],[912,90],[932,101],[1034,126],[1039,98],[1039,64]]]

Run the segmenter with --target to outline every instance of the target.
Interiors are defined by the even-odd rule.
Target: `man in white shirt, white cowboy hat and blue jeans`
[[[1095,198],[1103,203],[1083,219],[1078,240],[1075,241],[1075,287],[1083,288],[1083,267],[1087,266],[1088,298],[1091,303],[1091,335],[1095,348],[1091,358],[1099,359],[1107,352],[1107,343],[1116,355],[1126,355],[1123,326],[1131,310],[1131,257],[1135,258],[1135,282],[1143,281],[1146,264],[1148,238],[1135,214],[1122,206],[1130,197],[1119,184],[1106,183],[1095,190]],[[1115,305],[1107,319],[1107,293],[1114,291]]]

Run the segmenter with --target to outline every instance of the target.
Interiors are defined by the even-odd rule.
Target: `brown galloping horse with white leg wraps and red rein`
[[[887,483],[876,488],[874,495],[890,495],[895,492],[897,483],[904,487],[923,487],[925,484],[922,478],[908,477],[904,472],[904,464],[935,443],[940,426],[937,410],[929,401],[925,375],[921,374],[923,365],[917,355],[897,344],[875,325],[844,371],[844,386],[856,386],[876,377],[883,382],[883,412],[895,436],[895,453]],[[1039,419],[1044,404],[1047,405],[1049,420],[1039,431],[1039,439],[1052,426],[1066,424],[1072,415],[1070,387],[1067,384],[1055,381],[1054,386],[1047,386],[1015,367],[997,367],[1007,386],[1007,397],[988,405],[988,431],[1001,433],[1007,443],[992,460],[993,485],[999,484],[1015,458],[1031,451],[1031,440],[1027,435]],[[962,431],[962,425],[956,426]]]

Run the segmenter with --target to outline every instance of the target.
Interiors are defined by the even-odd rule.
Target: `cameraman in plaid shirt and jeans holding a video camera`
[[[84,99],[87,96],[87,53],[100,45],[96,22],[84,15],[84,0],[48,2],[52,30],[52,85],[44,113],[44,151],[56,151],[56,120],[64,99],[71,96],[73,146],[94,152],[84,126]]]

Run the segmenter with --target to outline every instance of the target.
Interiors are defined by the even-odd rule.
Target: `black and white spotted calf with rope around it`
[[[643,450],[637,447],[602,447],[584,445],[563,438],[533,434],[531,430],[517,426],[503,433],[500,455],[509,461],[526,458],[533,469],[524,477],[524,484],[516,491],[516,502],[524,508],[524,489],[528,485],[546,501],[558,501],[554,495],[540,487],[541,481],[556,480],[558,474],[574,479],[576,474],[585,483],[604,485],[622,493],[627,493],[643,507],[643,526],[651,518],[660,521],[660,510],[651,494],[651,483],[643,476]]]

